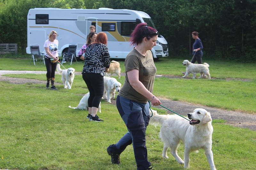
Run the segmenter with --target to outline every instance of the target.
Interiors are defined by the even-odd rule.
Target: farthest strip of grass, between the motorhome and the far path
[[[157,74],[166,75],[179,75],[181,71],[185,71],[186,67],[182,65],[183,59],[161,58],[155,61],[157,68]],[[124,72],[124,60],[118,60],[121,66],[121,72]],[[239,63],[231,61],[216,61],[216,60],[204,60],[210,67],[210,74],[212,78],[240,78],[240,79],[256,79],[255,63]],[[68,63],[63,64],[68,68]],[[84,62],[73,62],[72,67],[76,71],[82,71]],[[34,66],[33,62],[30,63],[28,58],[0,58],[0,70],[29,70],[29,71],[46,71],[43,62],[36,62]],[[191,76],[190,74],[189,76]],[[197,74],[199,76],[199,74]]]

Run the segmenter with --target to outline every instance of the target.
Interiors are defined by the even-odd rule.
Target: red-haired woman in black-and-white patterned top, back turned
[[[110,56],[107,47],[107,34],[100,32],[96,41],[86,48],[83,79],[90,92],[87,118],[94,122],[103,122],[98,116],[98,107],[104,92],[104,72],[108,72]]]

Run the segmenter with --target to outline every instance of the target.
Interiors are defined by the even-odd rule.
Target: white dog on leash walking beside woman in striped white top
[[[71,89],[72,83],[75,78],[75,69],[70,67],[68,69],[62,70],[60,68],[60,64],[57,64],[57,71],[59,72],[59,74],[61,74],[61,80],[63,82],[64,89]]]

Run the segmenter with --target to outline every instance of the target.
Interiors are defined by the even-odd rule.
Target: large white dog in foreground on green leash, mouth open
[[[149,123],[161,125],[160,138],[164,143],[163,157],[167,156],[168,148],[171,148],[172,156],[178,163],[189,168],[189,153],[204,149],[211,170],[216,170],[212,154],[212,117],[204,109],[197,108],[193,113],[188,114],[188,120],[177,115],[158,115],[153,110],[153,116]],[[177,148],[180,140],[184,143],[184,161],[178,156]]]

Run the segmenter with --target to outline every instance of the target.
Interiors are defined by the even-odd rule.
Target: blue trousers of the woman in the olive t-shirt
[[[149,103],[139,103],[121,96],[116,98],[116,107],[128,132],[116,143],[116,153],[121,154],[126,146],[132,144],[137,169],[147,169],[146,127],[149,122]]]

